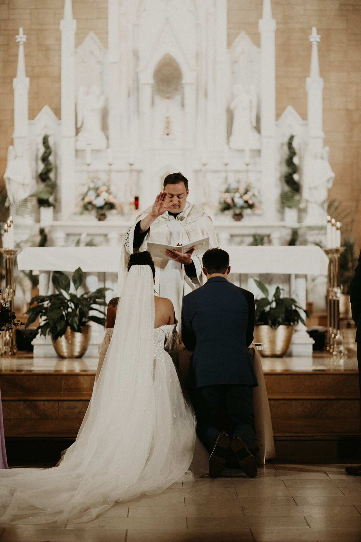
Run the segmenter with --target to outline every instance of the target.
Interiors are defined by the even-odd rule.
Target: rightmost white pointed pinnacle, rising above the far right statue
[[[309,40],[312,43],[310,77],[306,79],[309,149],[312,152],[318,153],[323,149],[325,134],[323,133],[322,126],[322,90],[324,80],[320,77],[318,62],[318,43],[320,36],[317,34],[316,27],[312,28]]]

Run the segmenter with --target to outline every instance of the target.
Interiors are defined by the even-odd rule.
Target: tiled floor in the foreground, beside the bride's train
[[[7,526],[0,542],[360,541],[361,478],[343,464],[267,464],[255,479],[175,483],[65,529]]]

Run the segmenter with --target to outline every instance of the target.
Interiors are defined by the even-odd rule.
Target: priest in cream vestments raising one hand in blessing
[[[124,236],[124,246],[118,274],[118,295],[124,283],[129,254],[134,250],[147,250],[147,242],[171,244],[191,243],[209,237],[209,248],[217,246],[211,217],[187,201],[188,180],[181,173],[170,173],[164,179],[163,191],[149,207],[136,218],[135,224]],[[194,249],[182,254],[167,251],[164,258],[154,258],[155,292],[173,302],[175,317],[180,322],[183,295],[203,283],[202,254]]]

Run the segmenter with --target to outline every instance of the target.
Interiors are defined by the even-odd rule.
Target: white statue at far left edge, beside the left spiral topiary
[[[28,160],[24,156],[17,156],[12,145],[8,149],[4,180],[10,208],[28,197],[35,188]]]

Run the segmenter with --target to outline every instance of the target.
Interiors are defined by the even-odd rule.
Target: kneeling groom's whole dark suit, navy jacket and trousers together
[[[197,420],[197,434],[211,453],[220,412],[232,433],[248,447],[253,441],[253,387],[257,386],[248,346],[253,340],[254,296],[215,276],[183,298],[182,339],[194,351],[186,388]]]

